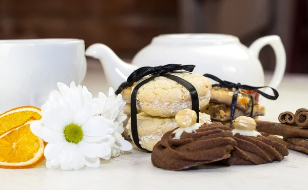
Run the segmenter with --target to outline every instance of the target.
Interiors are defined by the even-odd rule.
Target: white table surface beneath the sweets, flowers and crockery
[[[266,75],[266,80],[270,76]],[[100,65],[89,64],[83,85],[94,96],[107,92]],[[265,100],[263,120],[277,121],[283,111],[308,108],[308,75],[286,75],[276,101]],[[151,154],[134,149],[101,161],[97,169],[47,170],[45,162],[25,170],[0,169],[0,189],[307,189],[308,155],[289,151],[281,162],[251,166],[205,165],[199,170],[170,172],[156,168]]]

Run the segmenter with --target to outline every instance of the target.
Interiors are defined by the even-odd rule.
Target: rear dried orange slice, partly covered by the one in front
[[[40,120],[42,118],[41,109],[25,106],[0,114],[0,134],[25,123],[30,117],[34,117],[34,120]]]

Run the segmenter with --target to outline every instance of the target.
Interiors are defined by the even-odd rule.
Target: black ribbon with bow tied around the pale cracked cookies
[[[139,149],[143,149],[139,143],[139,135],[137,129],[137,92],[145,83],[152,80],[157,76],[163,76],[174,80],[180,83],[183,87],[185,87],[191,96],[191,107],[197,113],[197,122],[199,122],[199,98],[197,90],[194,86],[191,85],[188,81],[184,80],[175,75],[167,74],[170,72],[176,72],[180,70],[192,72],[196,66],[194,65],[178,65],[178,64],[168,64],[165,66],[158,67],[142,67],[132,72],[126,82],[123,82],[119,89],[115,92],[116,94],[121,93],[124,88],[131,87],[134,82],[140,81],[146,76],[152,75],[144,80],[140,81],[132,90],[131,93],[131,101],[130,101],[130,124],[131,124],[131,136],[133,142],[139,147]],[[145,149],[143,149],[145,150]]]

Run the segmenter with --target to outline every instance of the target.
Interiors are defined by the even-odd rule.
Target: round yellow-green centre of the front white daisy
[[[68,142],[78,143],[83,138],[81,126],[71,123],[65,126],[64,136]]]

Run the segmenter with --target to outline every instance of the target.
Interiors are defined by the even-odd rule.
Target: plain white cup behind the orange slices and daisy
[[[41,108],[57,82],[79,85],[86,74],[84,40],[0,40],[0,112]]]

